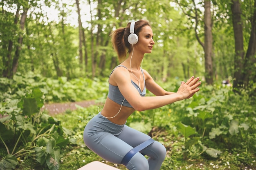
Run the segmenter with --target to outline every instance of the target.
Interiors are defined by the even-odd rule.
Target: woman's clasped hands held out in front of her
[[[199,85],[201,85],[199,77],[195,78],[195,76],[192,76],[188,81],[186,81],[186,83],[184,81],[181,82],[177,94],[180,94],[182,99],[191,98],[196,92],[199,91]]]

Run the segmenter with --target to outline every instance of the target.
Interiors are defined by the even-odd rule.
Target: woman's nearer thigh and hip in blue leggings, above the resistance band
[[[85,126],[83,140],[93,152],[107,161],[120,164],[132,146],[117,138],[124,126],[115,125],[100,115]]]

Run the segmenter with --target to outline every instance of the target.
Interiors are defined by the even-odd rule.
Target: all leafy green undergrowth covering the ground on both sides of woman
[[[36,166],[44,169],[64,170],[103,161],[84,145],[83,129],[97,114],[97,107],[103,107],[108,81],[51,79],[28,73],[17,74],[14,80],[0,78],[0,84],[0,167],[11,170],[20,166],[28,170],[37,162]],[[161,85],[170,87],[169,82]],[[171,83],[171,87],[175,91],[179,84]],[[92,107],[76,106],[77,110],[54,117],[40,112],[45,100],[60,102],[96,97],[99,98],[95,102],[99,103]],[[134,112],[127,125],[153,135],[166,146],[163,168],[213,169],[213,163],[221,162],[222,168],[254,169],[255,110],[254,100],[246,91],[237,95],[229,88],[204,86],[190,99]],[[74,159],[74,155],[79,157]],[[28,163],[27,167],[24,162]],[[119,165],[118,168],[126,169]]]

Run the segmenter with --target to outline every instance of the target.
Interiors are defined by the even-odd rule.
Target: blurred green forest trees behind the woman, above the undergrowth
[[[252,0],[2,0],[1,11],[1,77],[108,76],[118,64],[111,31],[146,19],[156,44],[144,68],[156,80],[229,78],[237,88],[256,79]]]

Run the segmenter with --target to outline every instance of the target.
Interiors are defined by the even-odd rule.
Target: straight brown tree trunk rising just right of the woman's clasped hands
[[[204,67],[205,80],[209,85],[213,84],[212,63],[212,32],[211,32],[211,1],[204,1]]]

